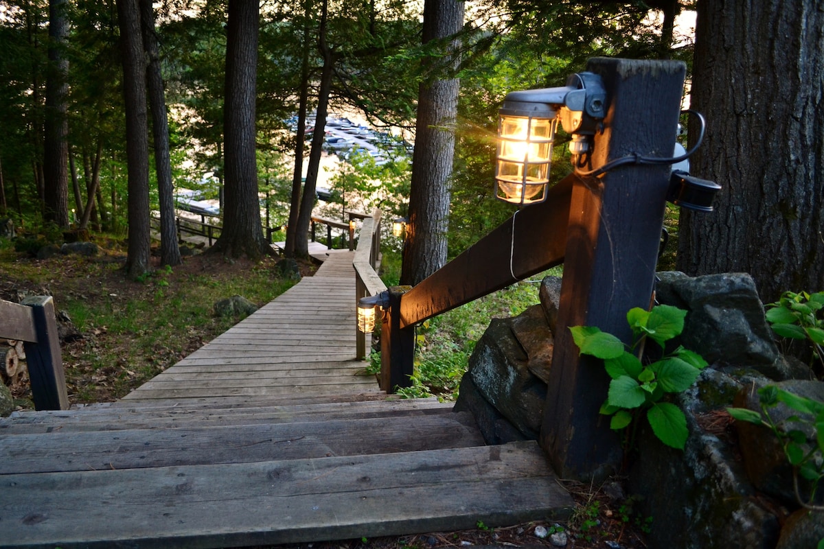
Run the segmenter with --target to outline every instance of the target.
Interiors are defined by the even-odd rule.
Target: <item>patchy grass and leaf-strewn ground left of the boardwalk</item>
[[[294,284],[274,274],[273,258],[252,263],[206,255],[132,281],[118,241],[96,240],[97,256],[44,260],[0,240],[0,297],[52,295],[82,334],[63,346],[71,402],[121,398],[224,333],[240,319],[216,316],[216,301],[242,295],[260,306]]]

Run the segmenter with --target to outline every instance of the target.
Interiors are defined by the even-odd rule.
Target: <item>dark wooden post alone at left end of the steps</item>
[[[67,410],[66,375],[60,355],[54,301],[51,295],[36,295],[26,297],[21,305],[31,307],[37,335],[37,342],[23,343],[35,410]]]

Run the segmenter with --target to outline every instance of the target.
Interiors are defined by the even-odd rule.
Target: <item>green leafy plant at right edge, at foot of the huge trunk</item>
[[[813,356],[824,366],[824,291],[785,291],[780,300],[766,306],[766,319],[773,331],[780,337],[808,340]]]

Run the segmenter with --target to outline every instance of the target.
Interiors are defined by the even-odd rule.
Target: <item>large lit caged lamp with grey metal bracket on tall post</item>
[[[566,86],[508,93],[499,110],[496,198],[522,206],[544,202],[558,119],[577,158],[589,150],[605,114],[606,91],[592,72],[572,75]]]

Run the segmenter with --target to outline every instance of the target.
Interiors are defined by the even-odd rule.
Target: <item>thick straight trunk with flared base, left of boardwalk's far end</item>
[[[223,111],[223,230],[211,253],[260,258],[272,248],[263,235],[255,158],[255,86],[260,11],[257,2],[229,0],[226,106]]]

